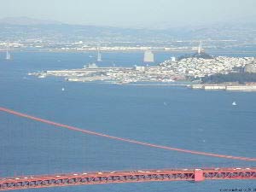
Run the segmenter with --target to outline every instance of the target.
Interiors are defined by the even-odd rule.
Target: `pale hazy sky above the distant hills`
[[[0,18],[104,26],[185,26],[256,20],[256,0],[0,0]]]

